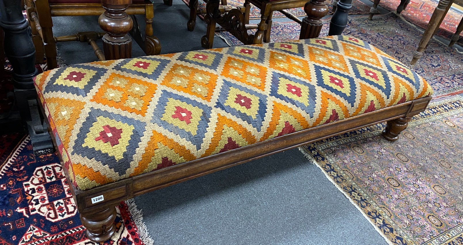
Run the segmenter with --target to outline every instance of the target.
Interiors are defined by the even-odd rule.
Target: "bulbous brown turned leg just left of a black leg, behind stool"
[[[307,17],[302,20],[299,39],[318,37],[323,26],[321,18],[328,13],[325,0],[310,0],[304,6],[304,11]]]

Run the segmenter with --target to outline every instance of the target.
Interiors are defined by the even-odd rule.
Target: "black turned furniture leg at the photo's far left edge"
[[[34,44],[27,30],[29,24],[21,10],[20,0],[0,0],[0,26],[5,32],[5,55],[13,67],[14,96],[20,119],[27,125],[34,153],[51,153],[54,151],[53,143],[47,131],[47,124],[42,121],[33,84],[33,78],[38,73],[35,68]],[[14,115],[12,113],[11,116]],[[14,121],[15,118],[3,119],[6,124],[2,126],[18,128],[18,124],[21,125],[11,121],[12,119]],[[2,130],[5,129],[2,127]]]

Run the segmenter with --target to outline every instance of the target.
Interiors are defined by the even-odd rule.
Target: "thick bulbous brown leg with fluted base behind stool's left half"
[[[106,10],[98,18],[100,28],[107,33],[103,36],[103,49],[106,60],[117,60],[131,57],[132,38],[127,34],[133,26],[125,9],[132,0],[101,0]]]

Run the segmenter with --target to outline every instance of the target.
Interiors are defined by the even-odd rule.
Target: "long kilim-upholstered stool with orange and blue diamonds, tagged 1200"
[[[94,241],[134,196],[384,121],[397,140],[432,95],[348,36],[72,65],[35,84]]]

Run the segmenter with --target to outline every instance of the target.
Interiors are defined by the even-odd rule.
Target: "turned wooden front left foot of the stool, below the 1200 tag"
[[[116,207],[105,207],[95,212],[82,213],[82,224],[87,228],[86,235],[91,241],[100,243],[109,240],[116,231]]]

